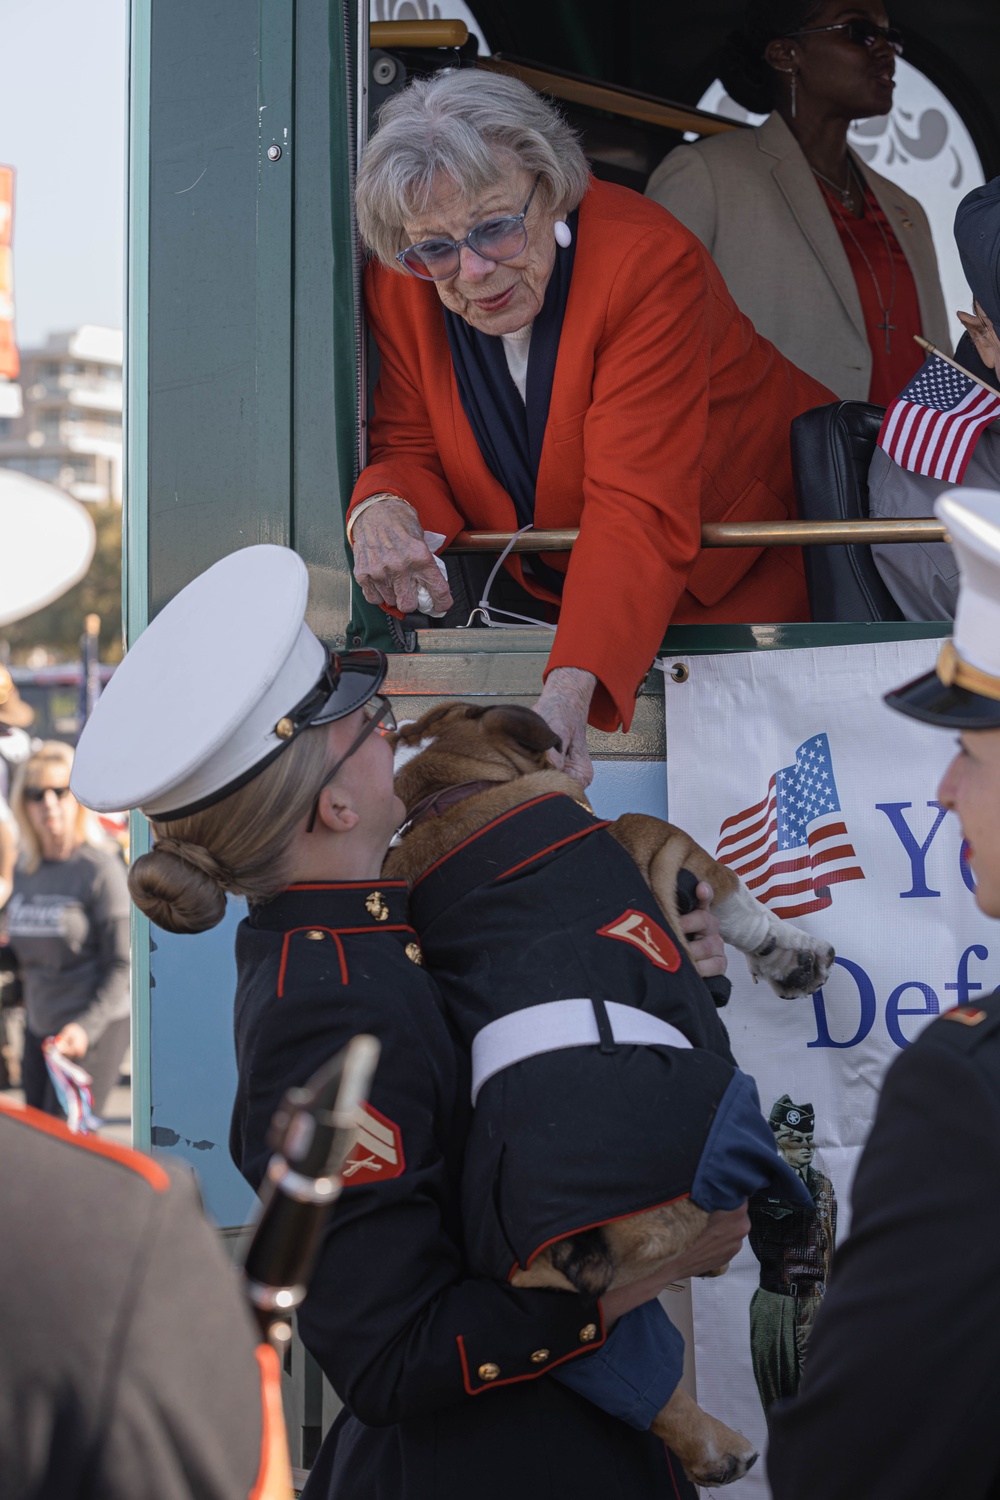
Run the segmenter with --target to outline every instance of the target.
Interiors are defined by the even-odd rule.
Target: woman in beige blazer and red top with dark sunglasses
[[[718,76],[768,114],[678,146],[646,192],[687,224],[759,333],[843,400],[888,405],[924,358],[951,352],[921,204],[847,146],[889,114],[901,33],[882,0],[753,0]]]

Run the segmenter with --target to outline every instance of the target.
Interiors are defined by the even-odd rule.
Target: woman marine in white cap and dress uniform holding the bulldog
[[[387,658],[330,657],[304,624],[306,594],[306,566],[285,548],[246,548],[202,573],[124,657],[73,770],[88,804],[148,814],[154,844],[129,888],[157,926],[204,932],[226,892],[249,902],[229,1144],[255,1188],[285,1090],[352,1035],[381,1042],[298,1312],[345,1402],[306,1496],[693,1496],[642,1422],[598,1410],[556,1372],[606,1358],[616,1318],[729,1258],[745,1210],[714,1214],[684,1258],[600,1304],[469,1274],[459,1206],[468,1062],[423,966],[406,886],[379,873],[405,816],[378,734],[393,726],[379,692]],[[636,1406],[642,1396],[633,1390]]]

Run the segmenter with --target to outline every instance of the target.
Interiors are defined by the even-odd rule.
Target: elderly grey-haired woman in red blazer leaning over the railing
[[[702,552],[700,526],[793,514],[789,424],[834,398],[759,338],[676,219],[591,178],[517,80],[411,82],[357,212],[381,352],[348,513],[358,584],[444,612],[426,531],[439,548],[466,526],[579,526],[571,554],[507,560],[504,603],[558,620],[535,706],[586,783],[588,717],[628,728],[670,621],[808,618],[796,549]]]

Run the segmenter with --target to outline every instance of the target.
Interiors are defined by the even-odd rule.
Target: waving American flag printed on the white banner
[[[837,795],[826,735],[813,735],[768,782],[768,795],[727,818],[715,858],[777,916],[829,906],[831,885],[864,880]]]

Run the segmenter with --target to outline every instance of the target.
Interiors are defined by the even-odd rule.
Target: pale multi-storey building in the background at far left
[[[0,406],[0,465],[75,500],[121,504],[121,330],[84,324],[21,350],[21,411]]]

